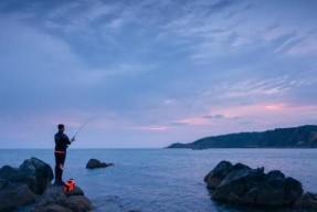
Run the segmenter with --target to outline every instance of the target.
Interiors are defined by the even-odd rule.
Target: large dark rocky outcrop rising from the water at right
[[[216,201],[278,208],[295,205],[303,194],[302,183],[278,170],[264,173],[263,167],[252,169],[229,161],[218,163],[204,181]]]

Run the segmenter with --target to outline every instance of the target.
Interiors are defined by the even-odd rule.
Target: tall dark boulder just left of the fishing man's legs
[[[24,162],[19,167],[19,171],[28,177],[35,178],[35,194],[42,194],[54,178],[53,170],[50,165],[34,157],[24,160]]]

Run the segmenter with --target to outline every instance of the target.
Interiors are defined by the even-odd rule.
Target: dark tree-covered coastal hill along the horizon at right
[[[317,126],[211,136],[189,144],[176,142],[167,148],[317,148]]]

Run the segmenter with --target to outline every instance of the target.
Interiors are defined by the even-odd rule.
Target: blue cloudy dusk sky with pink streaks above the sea
[[[316,125],[315,0],[0,0],[0,148]]]

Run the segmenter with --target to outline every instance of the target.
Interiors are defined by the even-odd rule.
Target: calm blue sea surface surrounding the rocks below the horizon
[[[0,149],[0,167],[19,167],[31,157],[54,167],[53,150],[49,149]],[[91,158],[115,166],[88,170],[85,166]],[[74,178],[97,212],[265,211],[225,205],[210,199],[203,177],[221,160],[242,162],[251,168],[264,167],[265,172],[278,169],[302,181],[305,191],[317,192],[317,149],[70,148],[63,179]]]

